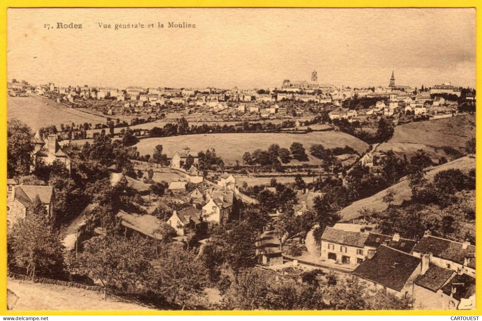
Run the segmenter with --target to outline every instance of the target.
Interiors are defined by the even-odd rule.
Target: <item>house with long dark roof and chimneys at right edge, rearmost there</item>
[[[432,261],[444,268],[458,271],[467,270],[467,274],[475,277],[475,246],[468,241],[455,242],[430,235],[426,231],[424,237],[415,245],[413,255],[432,253]]]

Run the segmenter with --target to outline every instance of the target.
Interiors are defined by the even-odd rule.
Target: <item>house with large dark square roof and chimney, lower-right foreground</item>
[[[399,297],[413,296],[413,282],[428,269],[429,259],[380,245],[371,258],[364,260],[353,274],[368,283],[370,290],[384,291]]]

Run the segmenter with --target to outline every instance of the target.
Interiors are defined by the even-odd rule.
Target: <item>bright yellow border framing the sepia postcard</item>
[[[480,2],[482,3],[482,2]],[[0,1],[0,141],[2,148],[0,149],[0,208],[6,208],[6,172],[7,172],[7,9],[8,8],[166,8],[166,7],[280,7],[280,8],[424,8],[424,7],[441,7],[441,8],[476,8],[476,79],[481,79],[482,68],[480,66],[482,56],[482,5],[476,0],[425,0],[421,3],[420,0],[399,0],[396,3],[390,0],[337,0],[337,1],[316,1],[316,0],[144,0],[129,1],[129,0],[3,0]],[[482,83],[477,81],[476,90],[479,96],[482,93]],[[482,167],[482,160],[479,154],[482,154],[480,148],[482,144],[479,141],[480,133],[482,131],[482,114],[476,114],[476,137],[477,137],[477,188],[476,188],[476,217],[482,215],[481,208],[478,203],[482,202],[480,197],[482,174],[479,168]],[[481,201],[479,201],[481,200]],[[5,213],[5,212],[3,212]],[[0,315],[10,316],[41,316],[41,315],[481,315],[482,313],[482,269],[477,270],[477,279],[481,281],[476,282],[476,310],[408,310],[408,311],[8,311],[7,308],[7,286],[6,286],[6,266],[7,266],[7,244],[6,244],[6,220],[0,219]],[[476,237],[480,240],[482,237],[482,220],[476,219]],[[478,242],[480,243],[480,242]],[[482,246],[477,245],[476,249],[476,264],[478,267],[482,261]]]

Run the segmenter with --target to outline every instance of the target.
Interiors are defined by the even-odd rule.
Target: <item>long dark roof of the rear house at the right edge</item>
[[[415,245],[414,251],[418,253],[430,252],[434,257],[441,257],[458,264],[464,264],[464,258],[475,253],[475,246],[469,245],[466,249],[460,242],[450,241],[435,236],[422,238]]]

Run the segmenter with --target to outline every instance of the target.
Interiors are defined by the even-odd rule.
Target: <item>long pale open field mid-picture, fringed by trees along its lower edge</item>
[[[214,148],[216,154],[221,156],[226,163],[242,161],[245,152],[254,152],[256,149],[266,150],[273,143],[281,147],[289,148],[292,142],[300,142],[307,150],[311,164],[321,164],[321,160],[309,155],[312,144],[320,143],[325,148],[353,147],[359,153],[364,152],[368,145],[348,134],[342,132],[326,131],[311,132],[308,134],[288,133],[227,133],[227,134],[198,134],[173,137],[147,138],[140,140],[135,146],[141,155],[152,154],[158,144],[163,146],[163,153],[172,157],[176,151],[189,147],[191,152],[197,154]],[[298,163],[293,161],[292,164]]]

